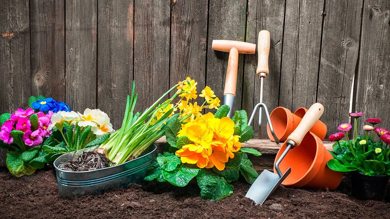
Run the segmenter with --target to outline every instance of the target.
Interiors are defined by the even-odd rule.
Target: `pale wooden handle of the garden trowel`
[[[314,124],[319,120],[321,115],[324,112],[324,106],[320,103],[315,103],[306,112],[303,116],[298,127],[287,137],[287,141],[292,140],[295,142],[295,147],[298,147],[306,133],[313,127]]]

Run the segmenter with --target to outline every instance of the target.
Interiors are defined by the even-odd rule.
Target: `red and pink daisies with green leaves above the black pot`
[[[381,124],[379,118],[368,118],[366,122],[371,125],[364,125],[365,136],[357,133],[357,120],[363,113],[351,113],[355,118],[355,138],[349,139],[348,132],[352,125],[344,123],[339,125],[338,132],[329,136],[330,141],[337,141],[333,144],[333,159],[328,161],[328,167],[335,171],[349,172],[359,171],[365,175],[390,175],[390,131],[381,127],[374,127]],[[375,139],[375,134],[378,137]],[[342,140],[346,137],[347,141]]]

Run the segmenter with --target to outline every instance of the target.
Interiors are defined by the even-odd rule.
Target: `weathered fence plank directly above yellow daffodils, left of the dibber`
[[[207,0],[172,1],[170,87],[187,76],[198,82],[198,94],[205,87],[207,4]]]

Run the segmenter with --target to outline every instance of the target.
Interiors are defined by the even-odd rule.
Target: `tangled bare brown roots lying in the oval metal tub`
[[[110,167],[112,162],[105,156],[105,154],[96,152],[83,152],[78,159],[61,162],[58,169],[66,171],[89,171],[98,170]]]

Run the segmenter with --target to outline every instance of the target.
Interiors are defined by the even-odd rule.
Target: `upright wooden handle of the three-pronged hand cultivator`
[[[256,74],[261,72],[269,74],[268,69],[268,56],[269,56],[269,44],[271,43],[271,37],[268,30],[262,30],[259,32],[259,38],[257,40],[257,69]]]

